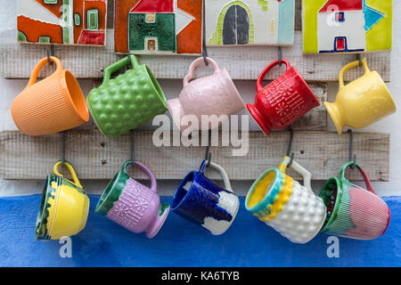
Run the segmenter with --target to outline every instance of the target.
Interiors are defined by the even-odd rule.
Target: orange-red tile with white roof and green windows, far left
[[[17,0],[18,41],[106,45],[107,0]]]

